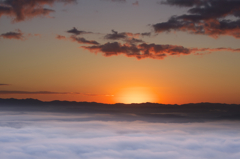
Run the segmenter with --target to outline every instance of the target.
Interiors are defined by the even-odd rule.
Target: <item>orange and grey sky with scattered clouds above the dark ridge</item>
[[[240,1],[0,0],[0,98],[240,104]]]

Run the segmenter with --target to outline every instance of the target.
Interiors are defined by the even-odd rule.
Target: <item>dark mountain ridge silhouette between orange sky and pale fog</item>
[[[95,102],[50,101],[37,99],[1,99],[1,111],[110,114],[128,120],[165,122],[240,121],[240,105],[221,103],[189,103],[183,105],[141,103],[103,104]]]

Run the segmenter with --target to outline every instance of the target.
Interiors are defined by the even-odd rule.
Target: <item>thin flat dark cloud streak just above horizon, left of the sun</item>
[[[84,95],[84,96],[112,96],[112,95],[102,95],[102,94],[92,94],[92,93],[79,93],[79,92],[51,92],[51,91],[7,91],[7,90],[0,90],[0,95],[4,94],[47,94],[47,95],[57,95],[57,94],[72,94],[72,95]]]

